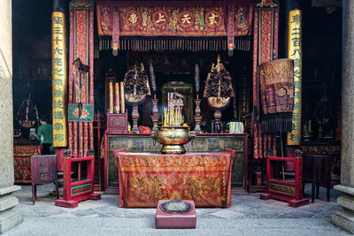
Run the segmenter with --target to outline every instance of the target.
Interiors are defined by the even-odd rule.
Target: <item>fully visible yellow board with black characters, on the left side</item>
[[[66,57],[65,14],[51,15],[53,147],[66,147]]]

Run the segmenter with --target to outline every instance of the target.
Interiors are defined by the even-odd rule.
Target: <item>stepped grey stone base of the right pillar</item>
[[[342,210],[332,215],[332,223],[343,230],[354,233],[354,187],[337,185],[334,188],[343,195],[337,200]]]

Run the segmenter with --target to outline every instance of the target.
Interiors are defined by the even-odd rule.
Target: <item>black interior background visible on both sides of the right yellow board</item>
[[[303,124],[312,120],[314,139],[319,135],[319,102],[327,99],[327,116],[335,137],[341,102],[342,8],[312,7],[308,0],[281,0],[280,57],[288,56],[288,12],[303,11]],[[325,96],[326,95],[326,96]]]

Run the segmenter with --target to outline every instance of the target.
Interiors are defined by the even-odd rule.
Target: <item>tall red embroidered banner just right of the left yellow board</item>
[[[94,103],[94,4],[90,0],[73,0],[69,4],[70,54],[69,97],[68,103],[76,105],[93,105]],[[73,62],[80,58],[84,65],[89,65],[89,72],[80,80],[74,78]],[[77,70],[78,71],[78,70]],[[78,76],[76,76],[78,77]],[[79,98],[81,95],[81,98]],[[73,156],[87,156],[88,150],[94,148],[93,122],[68,120],[68,148]],[[79,149],[80,148],[80,149]],[[81,155],[80,155],[81,154]]]

